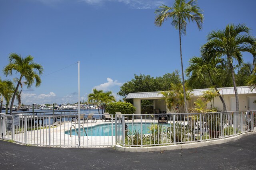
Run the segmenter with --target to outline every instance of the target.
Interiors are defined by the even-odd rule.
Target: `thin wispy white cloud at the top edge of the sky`
[[[135,9],[152,9],[162,4],[166,4],[166,0],[81,0],[91,5],[103,4],[105,2],[120,2]]]

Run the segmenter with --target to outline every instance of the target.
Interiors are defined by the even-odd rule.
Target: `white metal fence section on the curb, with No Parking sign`
[[[256,130],[254,111],[134,115],[125,120],[129,116],[116,115],[116,144],[123,147],[202,142]]]

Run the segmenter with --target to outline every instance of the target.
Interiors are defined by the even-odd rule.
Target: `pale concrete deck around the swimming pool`
[[[128,120],[126,123],[140,122]],[[150,123],[150,120],[143,119],[142,122]],[[111,125],[115,121],[103,121],[97,120],[96,123],[89,120],[88,123],[82,123],[83,127],[93,127],[95,125]],[[151,120],[152,123],[152,120]],[[20,133],[14,135],[14,141],[21,141],[24,144],[37,145],[37,146],[56,146],[56,147],[78,147],[78,135],[65,134],[65,131],[72,129],[78,129],[77,121],[66,121],[62,122],[60,125],[50,128],[50,140],[49,140],[49,128],[47,129],[38,129],[27,132],[27,141],[25,141],[25,133]],[[50,142],[50,145],[49,145]],[[80,138],[80,147],[114,147],[115,145],[115,136],[81,136]]]

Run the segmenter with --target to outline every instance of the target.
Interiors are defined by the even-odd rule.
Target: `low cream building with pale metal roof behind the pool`
[[[209,89],[195,89],[191,92],[191,100],[188,102],[188,107],[194,106],[194,101],[202,96],[202,92]],[[228,111],[236,110],[236,98],[234,93],[234,87],[218,88],[220,94],[224,99],[226,108]],[[240,111],[245,110],[256,110],[256,90],[251,90],[249,86],[237,87],[237,92],[239,96],[239,109]],[[162,100],[162,94],[160,92],[142,92],[142,93],[129,93],[126,99],[133,99],[134,107],[136,107],[135,114],[141,113],[141,100],[153,100],[154,109],[160,109],[161,111],[167,111],[167,113],[172,113],[172,111],[167,110],[164,100]],[[223,104],[220,98],[214,99],[214,106],[220,111],[224,111]]]

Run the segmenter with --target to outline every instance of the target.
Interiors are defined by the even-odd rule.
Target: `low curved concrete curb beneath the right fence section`
[[[186,143],[186,144],[179,144],[179,145],[144,147],[144,148],[122,147],[121,145],[115,145],[114,148],[118,151],[123,151],[123,152],[153,152],[153,151],[162,151],[162,150],[190,149],[190,148],[205,147],[209,145],[218,145],[222,143],[228,143],[231,141],[236,141],[238,139],[241,139],[242,137],[246,137],[248,135],[254,135],[254,134],[256,134],[256,132],[248,132],[248,133],[242,133],[240,135],[236,135],[234,137],[217,139],[213,141],[204,141],[200,143]]]

